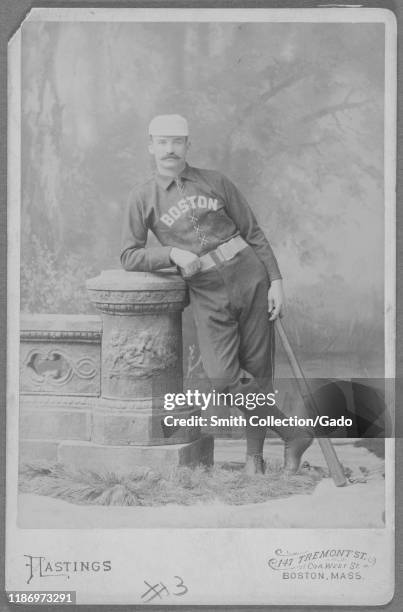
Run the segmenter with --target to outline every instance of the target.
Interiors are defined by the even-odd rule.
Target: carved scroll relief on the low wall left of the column
[[[35,347],[27,353],[23,366],[31,382],[55,387],[67,384],[73,376],[91,380],[98,371],[95,361],[88,355],[73,360],[59,348],[42,351]]]

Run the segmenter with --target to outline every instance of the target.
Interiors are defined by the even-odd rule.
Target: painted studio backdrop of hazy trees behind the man
[[[31,22],[22,51],[23,312],[94,313],[85,281],[120,267],[149,120],[178,112],[189,162],[269,238],[308,370],[382,376],[382,24]],[[188,310],[184,345],[201,376]]]

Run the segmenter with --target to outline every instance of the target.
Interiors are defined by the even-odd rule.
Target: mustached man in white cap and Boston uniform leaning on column
[[[160,115],[151,121],[149,151],[157,172],[130,196],[121,262],[140,271],[175,264],[189,287],[213,388],[267,394],[273,392],[273,321],[284,299],[278,264],[243,195],[219,172],[189,166],[189,147],[186,119]],[[161,246],[145,247],[148,230]],[[256,417],[284,415],[276,406],[248,408],[240,407],[247,420],[246,471],[262,474],[266,426],[256,426]],[[295,473],[311,436],[296,428],[275,431],[285,441],[284,468]]]

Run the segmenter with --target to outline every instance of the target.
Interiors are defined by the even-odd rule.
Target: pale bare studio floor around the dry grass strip
[[[239,462],[243,440],[216,440],[215,462]],[[271,499],[263,503],[230,506],[223,503],[159,507],[75,505],[34,494],[20,494],[18,526],[27,529],[119,528],[383,528],[385,526],[384,459],[354,440],[335,441],[352,483],[338,488],[323,478],[310,494]],[[277,440],[265,445],[265,457],[281,461]],[[304,455],[311,466],[326,469],[317,441]],[[354,477],[365,473],[365,482]]]

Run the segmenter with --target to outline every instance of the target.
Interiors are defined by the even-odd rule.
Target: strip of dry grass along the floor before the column
[[[61,464],[30,463],[20,469],[20,491],[101,506],[165,506],[224,503],[240,505],[310,493],[324,476],[306,469],[285,476],[277,463],[265,475],[248,477],[242,464],[176,467],[155,471],[136,468],[129,475],[72,470]]]

